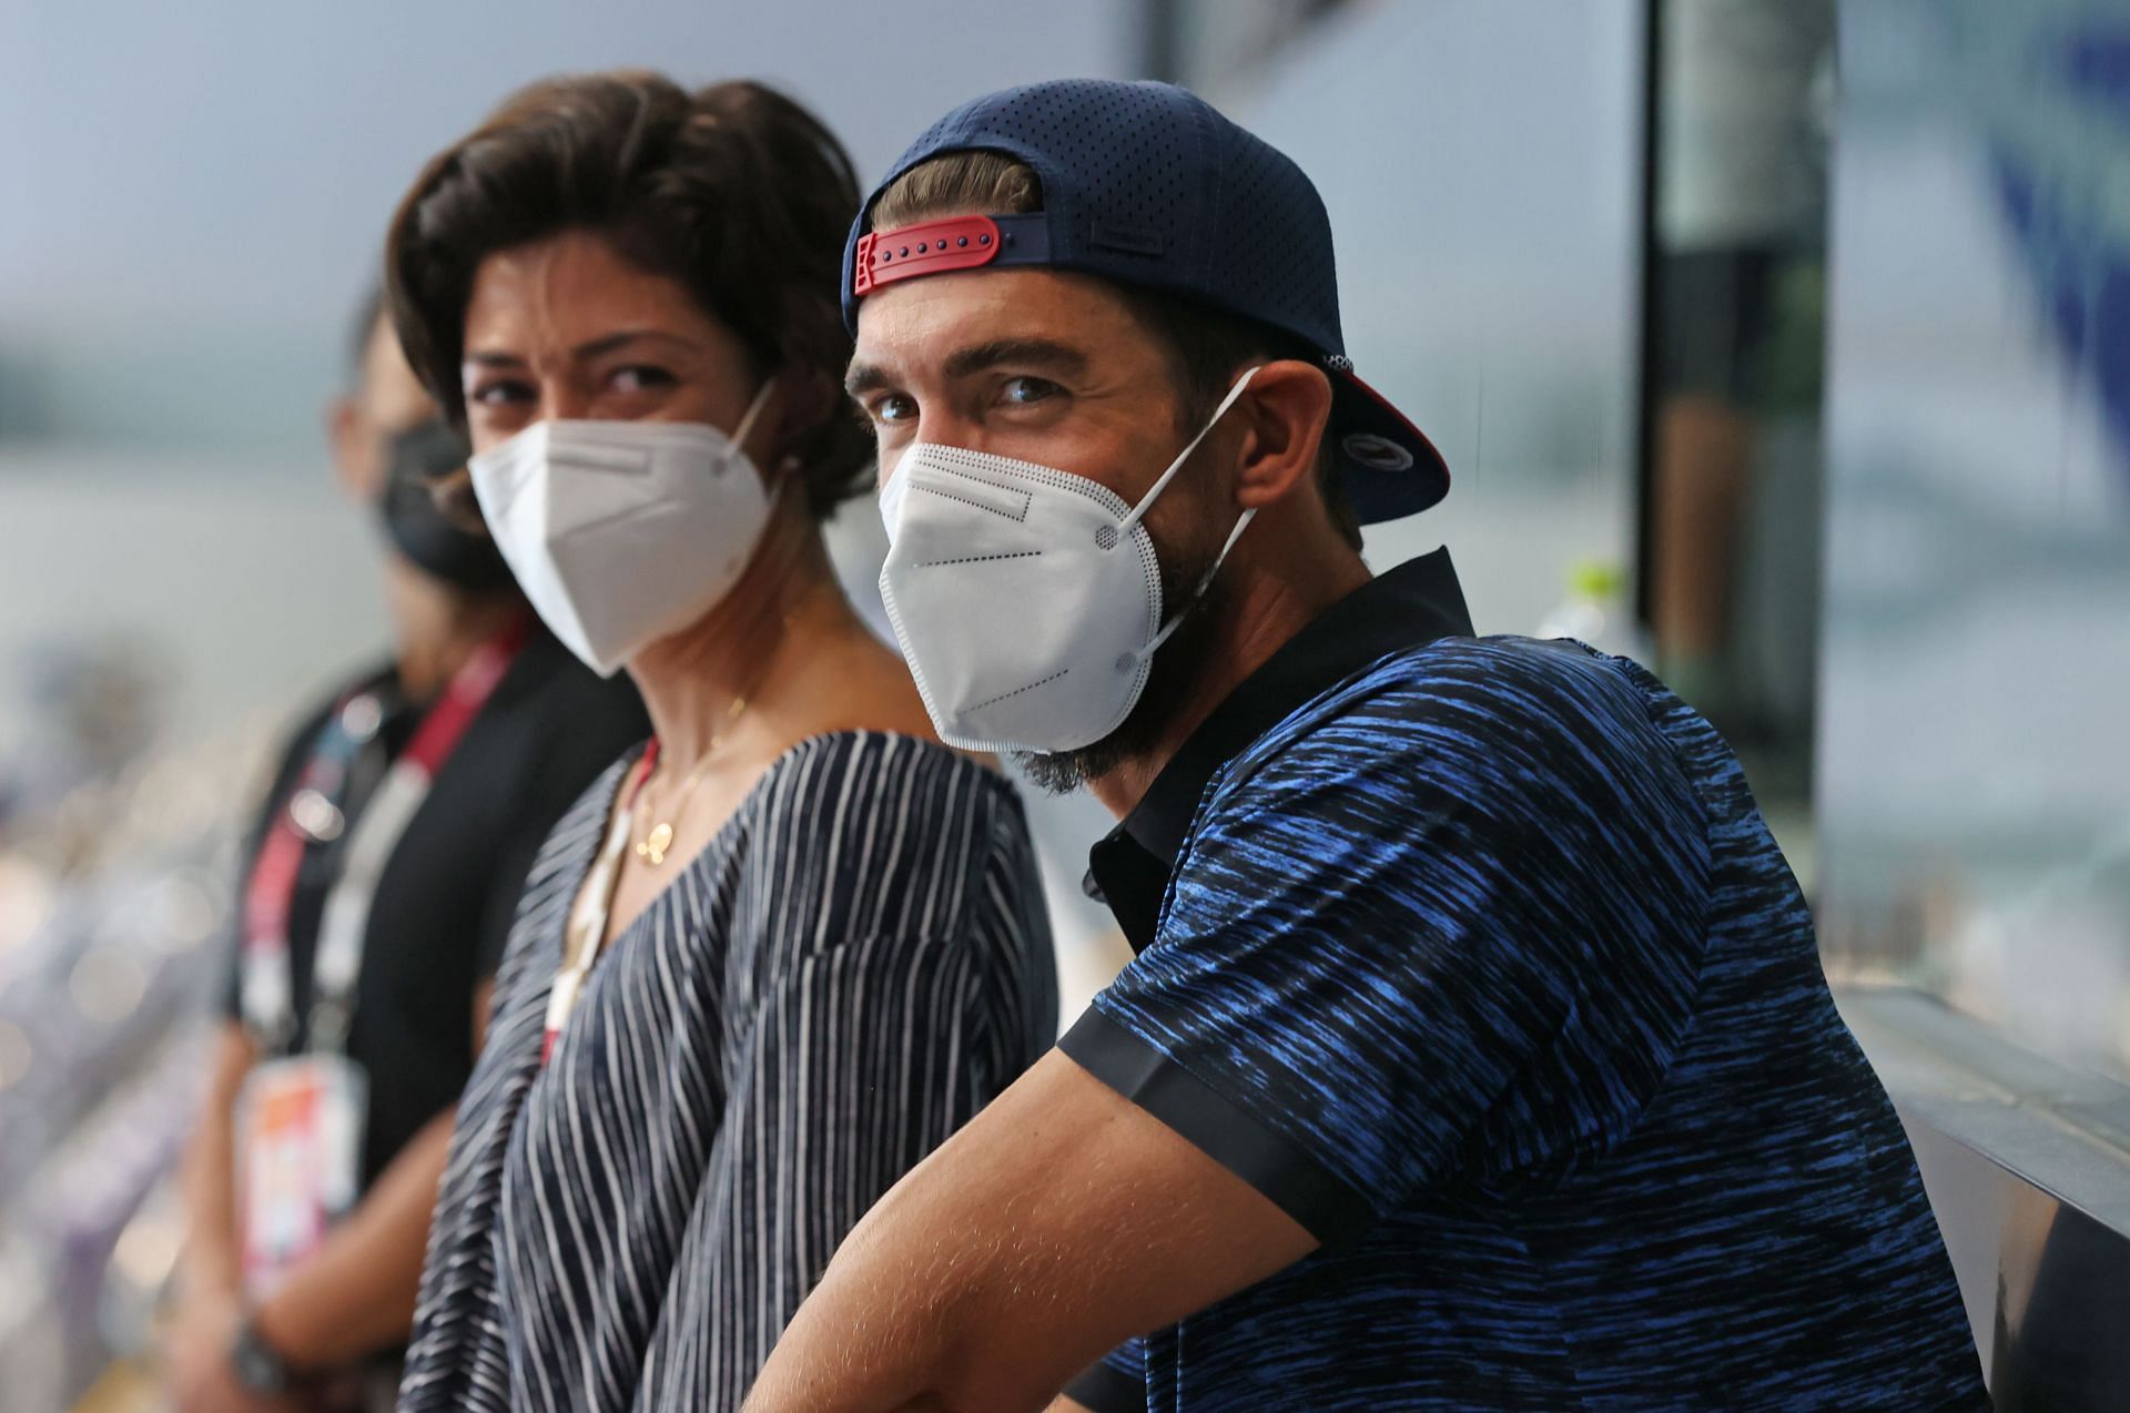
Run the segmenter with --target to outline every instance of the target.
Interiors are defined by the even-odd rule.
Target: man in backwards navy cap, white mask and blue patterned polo
[[[1150,83],[980,98],[846,260],[939,734],[1086,783],[1137,960],[843,1243],[750,1407],[1985,1407],[1738,762],[1474,638],[1310,181]],[[1133,1336],[1140,1345],[1127,1343]],[[1069,1407],[1069,1404],[1067,1404]]]

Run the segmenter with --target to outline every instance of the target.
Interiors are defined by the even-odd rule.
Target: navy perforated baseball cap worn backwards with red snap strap
[[[1044,209],[871,230],[873,202],[895,179],[971,149],[1025,162]],[[954,109],[865,198],[843,247],[843,323],[858,330],[858,304],[880,285],[980,266],[1080,270],[1293,334],[1331,375],[1327,436],[1363,523],[1425,511],[1451,489],[1442,453],[1346,358],[1316,185],[1197,94],[1061,79]]]

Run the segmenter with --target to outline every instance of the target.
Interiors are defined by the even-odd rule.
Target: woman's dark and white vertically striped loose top
[[[780,758],[539,1062],[616,764],[535,864],[458,1109],[400,1409],[735,1409],[843,1234],[1056,1032],[1012,785],[910,736]]]

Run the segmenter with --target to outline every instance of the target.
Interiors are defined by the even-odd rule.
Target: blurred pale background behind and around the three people
[[[0,0],[9,1409],[153,1407],[236,824],[386,634],[322,432],[386,217],[618,64],[767,79],[861,181],[1010,83],[1212,98],[1314,177],[1348,351],[1455,470],[1370,560],[1446,543],[1480,632],[1674,681],[1845,987],[2130,1079],[2130,4]],[[833,538],[871,596],[871,504]],[[1069,1021],[1127,955],[1108,819],[1035,813]]]

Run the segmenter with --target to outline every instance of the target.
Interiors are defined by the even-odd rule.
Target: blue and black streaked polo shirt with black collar
[[[1333,604],[1093,881],[1061,1043],[1323,1245],[1097,1409],[1987,1407],[1900,1121],[1736,758],[1636,664]]]

